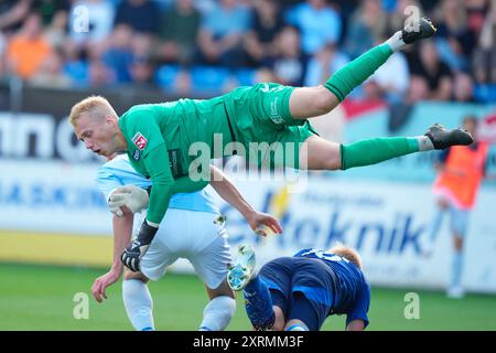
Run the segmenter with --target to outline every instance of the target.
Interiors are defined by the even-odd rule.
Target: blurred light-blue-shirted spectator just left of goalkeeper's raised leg
[[[304,54],[313,55],[327,43],[339,40],[339,14],[325,0],[308,0],[295,6],[289,11],[287,21],[300,30]]]

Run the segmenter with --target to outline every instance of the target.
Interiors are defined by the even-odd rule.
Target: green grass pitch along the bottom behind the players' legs
[[[121,300],[120,281],[107,291],[108,300],[90,297],[94,279],[105,269],[0,264],[0,330],[132,330]],[[150,284],[159,330],[196,330],[207,296],[194,276],[168,274]],[[496,330],[495,296],[468,295],[449,300],[443,292],[416,291],[420,319],[407,320],[408,289],[373,288],[368,330]],[[89,319],[76,320],[77,292],[89,296]],[[228,330],[248,330],[240,297]],[[345,317],[331,317],[323,330],[342,330]]]

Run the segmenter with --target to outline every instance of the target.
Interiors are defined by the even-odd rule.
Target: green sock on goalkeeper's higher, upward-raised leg
[[[324,87],[343,101],[353,88],[370,77],[391,54],[392,50],[388,44],[378,45],[335,72]]]

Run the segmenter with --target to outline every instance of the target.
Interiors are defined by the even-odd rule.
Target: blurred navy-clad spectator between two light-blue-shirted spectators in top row
[[[250,66],[260,67],[276,55],[276,36],[282,30],[277,1],[256,0],[254,2],[254,24],[245,40],[245,52]]]

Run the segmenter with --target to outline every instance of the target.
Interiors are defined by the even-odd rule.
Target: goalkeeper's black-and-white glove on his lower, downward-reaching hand
[[[140,270],[141,258],[150,247],[157,231],[159,231],[158,227],[150,225],[148,221],[144,220],[136,239],[122,252],[120,260],[131,271],[138,272]]]

